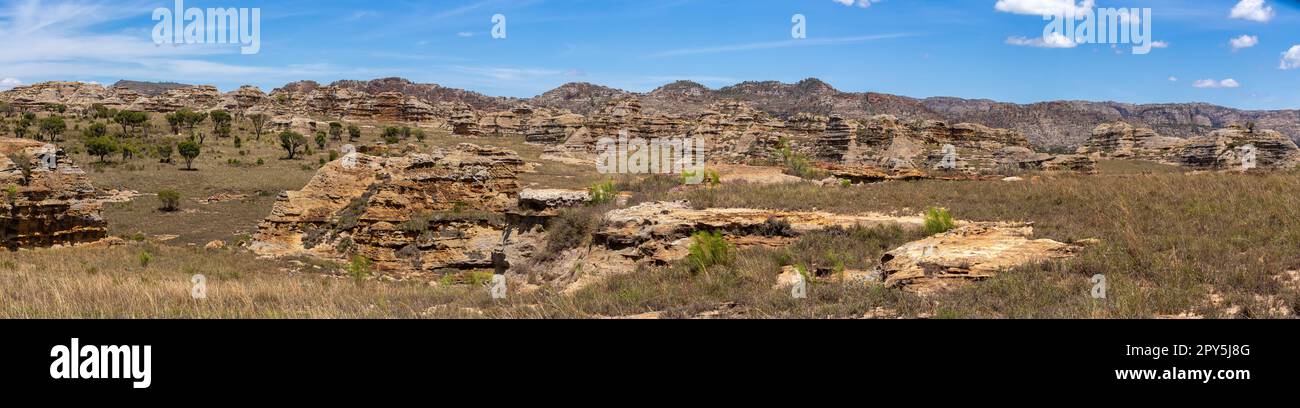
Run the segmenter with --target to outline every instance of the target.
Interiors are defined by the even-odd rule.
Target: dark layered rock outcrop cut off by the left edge
[[[108,223],[100,216],[103,201],[86,173],[61,149],[0,138],[0,246],[68,246],[108,235]]]

